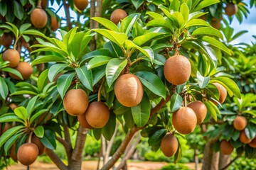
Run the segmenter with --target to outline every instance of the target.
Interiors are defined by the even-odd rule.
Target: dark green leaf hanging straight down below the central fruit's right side
[[[132,107],[131,109],[134,123],[139,127],[146,125],[151,111],[151,104],[146,93],[144,93],[141,103],[139,103],[138,106]]]

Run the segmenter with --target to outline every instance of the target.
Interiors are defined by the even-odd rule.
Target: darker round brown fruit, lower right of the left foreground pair
[[[105,103],[95,101],[90,103],[85,112],[85,118],[93,128],[102,128],[110,118],[110,110]]]

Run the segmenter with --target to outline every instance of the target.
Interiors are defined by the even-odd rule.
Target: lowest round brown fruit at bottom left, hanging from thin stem
[[[33,143],[25,143],[18,148],[17,158],[23,165],[31,165],[38,157],[38,147]]]

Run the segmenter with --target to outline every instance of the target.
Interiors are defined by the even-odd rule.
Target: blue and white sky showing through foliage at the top
[[[250,0],[245,0],[246,4],[249,4]],[[54,8],[55,10],[58,9],[58,5],[55,3],[53,4],[53,6],[49,7]],[[238,23],[237,18],[233,19],[233,22],[231,23],[231,27],[234,28],[234,34],[238,33],[241,30],[248,30],[248,33],[245,33],[244,35],[240,36],[239,38],[237,38],[236,40],[234,40],[233,42],[231,42],[231,44],[238,44],[240,42],[245,42],[250,44],[252,41],[255,42],[256,40],[254,38],[252,38],[252,35],[256,35],[256,8],[252,7],[249,9],[250,13],[248,15],[247,18],[244,18],[244,20],[242,21],[242,23]],[[58,16],[65,18],[65,11],[64,8],[61,8],[60,11],[58,11]],[[70,16],[73,18],[76,18],[76,13],[70,9]],[[82,18],[82,17],[81,17]],[[85,22],[85,20],[80,20],[82,23]],[[65,24],[65,23],[64,23]],[[60,33],[58,31],[56,31],[57,34],[57,38],[60,38]]]

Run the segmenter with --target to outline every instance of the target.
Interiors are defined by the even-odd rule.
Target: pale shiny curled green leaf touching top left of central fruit
[[[114,80],[117,79],[117,77],[122,72],[124,67],[126,67],[126,65],[127,65],[127,60],[121,60],[117,58],[114,58],[107,63],[106,80],[107,80],[107,85],[109,87],[113,84]]]

